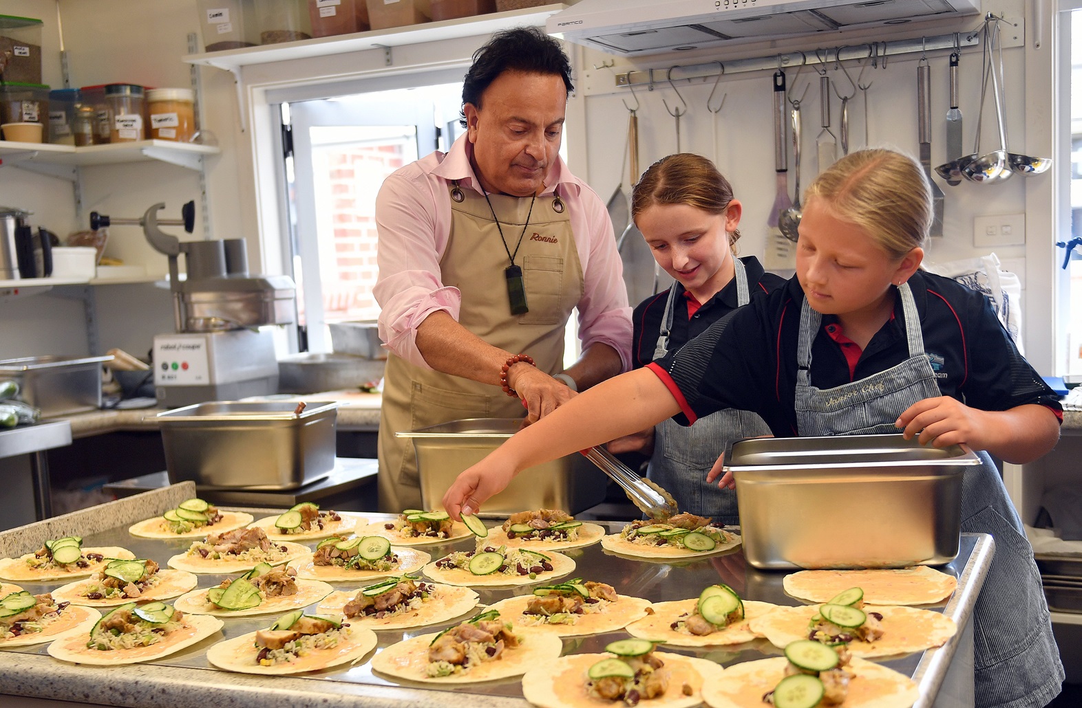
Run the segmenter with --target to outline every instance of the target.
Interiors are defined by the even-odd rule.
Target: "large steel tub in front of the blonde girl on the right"
[[[959,548],[963,445],[900,435],[738,440],[743,551],[757,569],[905,567],[950,562]]]

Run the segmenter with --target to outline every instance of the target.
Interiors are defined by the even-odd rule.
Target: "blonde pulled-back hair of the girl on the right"
[[[816,177],[804,203],[820,198],[861,227],[895,259],[924,243],[932,228],[932,189],[912,158],[884,148],[852,152]]]

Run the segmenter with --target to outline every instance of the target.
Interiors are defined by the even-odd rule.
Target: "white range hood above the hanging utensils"
[[[657,54],[979,10],[980,0],[580,0],[552,15],[547,30],[610,54]]]

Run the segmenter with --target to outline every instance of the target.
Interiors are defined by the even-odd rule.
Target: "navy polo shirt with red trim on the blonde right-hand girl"
[[[924,350],[944,396],[984,411],[1039,403],[1060,415],[1059,397],[1018,353],[982,293],[924,270],[916,271],[909,285]],[[804,291],[793,277],[783,288],[753,297],[727,326],[710,326],[650,364],[679,402],[676,422],[689,425],[735,408],[757,413],[777,437],[796,436],[793,405],[803,304]],[[836,322],[823,316],[812,345],[810,378],[817,388],[865,378],[909,358],[898,297],[894,317],[868,343],[852,377],[841,345],[827,331]]]

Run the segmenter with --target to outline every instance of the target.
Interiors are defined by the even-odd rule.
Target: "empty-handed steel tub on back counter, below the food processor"
[[[334,468],[338,403],[209,402],[159,413],[171,483],[293,490]]]

